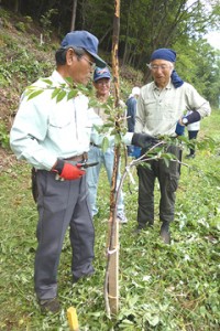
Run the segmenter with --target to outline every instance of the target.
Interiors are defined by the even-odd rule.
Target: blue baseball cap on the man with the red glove
[[[61,46],[68,49],[70,46],[84,49],[87,51],[94,58],[95,63],[99,67],[105,67],[106,62],[98,56],[98,39],[88,31],[72,31],[65,35],[62,41]]]

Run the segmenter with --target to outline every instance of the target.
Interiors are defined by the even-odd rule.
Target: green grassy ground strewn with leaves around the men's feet
[[[198,150],[183,167],[177,191],[172,245],[158,236],[160,222],[140,236],[136,226],[135,185],[125,180],[128,225],[120,228],[120,311],[109,320],[105,311],[109,190],[101,173],[96,227],[96,274],[72,285],[70,246],[66,236],[58,285],[63,310],[42,316],[33,291],[37,213],[31,195],[30,167],[16,162],[0,177],[0,330],[69,330],[66,309],[77,309],[80,331],[212,331],[219,330],[220,229],[220,110],[201,122],[199,139],[216,140],[216,150]],[[184,156],[187,150],[184,151]],[[135,169],[132,170],[135,182]],[[156,186],[155,213],[158,206]]]

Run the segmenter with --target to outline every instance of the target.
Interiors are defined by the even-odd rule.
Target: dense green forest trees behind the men
[[[103,57],[111,65],[114,1],[103,0],[1,0],[3,8],[41,24],[50,41],[70,30],[88,30],[100,40]],[[219,52],[205,39],[220,25],[218,0],[121,0],[120,66],[141,70],[144,82],[150,54],[157,47],[177,52],[178,74],[219,106]],[[123,75],[127,78],[125,71]]]

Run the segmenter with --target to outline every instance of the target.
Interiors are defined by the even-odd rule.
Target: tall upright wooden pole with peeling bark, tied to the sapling
[[[112,74],[114,82],[114,107],[119,107],[119,31],[120,0],[114,1],[113,36],[112,36]],[[120,116],[116,118],[116,130],[120,134]],[[108,233],[108,261],[105,280],[105,299],[107,313],[117,314],[119,310],[119,222],[117,220],[117,178],[120,162],[120,145],[114,146],[114,164],[110,193],[110,217]]]

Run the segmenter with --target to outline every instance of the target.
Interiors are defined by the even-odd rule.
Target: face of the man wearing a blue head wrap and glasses
[[[154,60],[151,62],[152,76],[155,84],[161,88],[168,84],[173,70],[174,65],[168,61]]]

